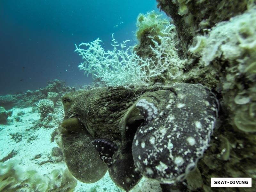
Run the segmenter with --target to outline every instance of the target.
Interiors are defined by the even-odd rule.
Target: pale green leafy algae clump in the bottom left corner
[[[0,191],[71,192],[77,185],[68,169],[56,169],[43,176],[35,170],[25,171],[19,163],[17,159],[0,163]]]

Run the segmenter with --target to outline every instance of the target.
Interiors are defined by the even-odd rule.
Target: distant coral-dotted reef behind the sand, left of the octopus
[[[74,87],[66,87],[63,81],[55,79],[54,81],[49,81],[48,85],[40,90],[28,90],[25,93],[16,95],[0,96],[0,106],[6,106],[8,109],[12,107],[33,107],[34,112],[39,111],[41,119],[34,120],[34,126],[30,127],[30,129],[38,129],[40,127],[53,128],[61,123],[64,115],[60,96],[73,91],[75,91]],[[50,99],[52,99],[52,101]],[[11,124],[13,121],[22,122],[24,120],[23,118],[26,118],[28,115],[20,111],[18,114],[15,114],[15,116],[12,116],[13,110],[14,108],[10,111],[6,111],[4,107],[0,107],[0,123]],[[13,118],[10,118],[11,116]],[[28,142],[30,141],[31,140],[28,139]]]

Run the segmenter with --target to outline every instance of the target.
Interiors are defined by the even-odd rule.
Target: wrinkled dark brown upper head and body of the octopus
[[[146,92],[154,92],[170,87],[147,87],[137,90],[123,87],[79,90],[62,98],[65,119],[72,116],[85,125],[93,138],[120,141],[125,139],[124,116],[127,110]]]

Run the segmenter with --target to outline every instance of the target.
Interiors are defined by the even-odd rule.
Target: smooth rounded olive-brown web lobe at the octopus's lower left
[[[108,168],[94,150],[93,138],[88,131],[82,129],[79,132],[69,132],[62,128],[61,140],[66,164],[76,179],[84,183],[94,183],[105,175]]]

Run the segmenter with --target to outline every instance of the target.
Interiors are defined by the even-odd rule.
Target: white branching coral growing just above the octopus
[[[153,50],[156,54],[156,58],[147,58],[143,60],[136,52],[132,52],[131,48],[126,48],[126,43],[129,40],[124,41],[122,44],[118,44],[112,34],[111,44],[114,48],[112,51],[105,51],[101,45],[101,40],[98,38],[91,43],[81,43],[76,46],[75,52],[85,60],[78,67],[80,70],[85,70],[85,74],[92,74],[93,78],[99,78],[104,84],[108,86],[124,86],[133,87],[149,86],[153,84],[153,79],[161,76],[164,71],[167,70],[172,60],[168,60],[169,53],[166,52],[166,46],[168,41],[166,38],[159,37],[162,43],[158,43],[152,40],[155,44]],[[165,38],[165,39],[164,39]],[[88,49],[82,49],[80,47],[87,46]]]

